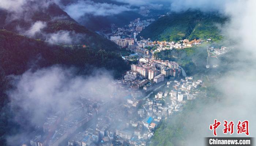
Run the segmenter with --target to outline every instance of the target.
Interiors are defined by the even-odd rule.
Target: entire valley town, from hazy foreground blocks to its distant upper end
[[[122,80],[118,80],[116,84],[120,88],[106,87],[113,91],[112,95],[105,95],[111,102],[98,100],[103,95],[93,96],[93,99],[81,96],[67,111],[49,115],[41,132],[35,133],[30,140],[31,146],[113,146],[113,143],[146,146],[162,119],[181,111],[186,100],[196,99],[200,93],[196,88],[202,85],[202,80],[194,81],[193,77],[180,79],[178,63],[149,59],[148,56],[150,52],[192,47],[203,41],[137,41],[138,33],[153,21],[155,19],[141,21],[138,18],[128,28],[117,28],[108,36],[118,46],[137,52],[136,55],[147,55],[147,58],[139,59],[139,64],[132,64],[131,70],[126,72]],[[149,50],[148,47],[153,49]],[[223,54],[228,48],[222,47],[220,50],[216,54]],[[211,51],[215,52],[216,49],[212,48]],[[143,96],[165,80],[169,80],[165,90],[157,91],[153,96]],[[97,87],[92,88],[97,90]],[[118,102],[112,101],[115,99],[113,97],[118,97]],[[63,143],[65,140],[68,143]]]

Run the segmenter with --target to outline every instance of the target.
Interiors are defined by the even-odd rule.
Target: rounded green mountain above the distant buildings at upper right
[[[213,41],[218,41],[223,36],[217,29],[217,25],[222,25],[226,20],[226,17],[218,14],[200,11],[172,12],[143,29],[138,39],[143,37],[159,41],[178,41],[211,38]]]

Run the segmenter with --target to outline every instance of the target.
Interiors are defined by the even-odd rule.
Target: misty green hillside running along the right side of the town
[[[150,146],[188,145],[188,139],[191,139],[191,135],[198,133],[199,125],[193,125],[200,122],[200,119],[197,118],[205,116],[204,114],[205,110],[208,110],[207,108],[210,108],[210,110],[218,108],[220,104],[218,102],[222,100],[222,90],[218,88],[219,83],[211,80],[214,78],[217,79],[218,76],[222,76],[229,70],[238,70],[236,66],[230,65],[236,62],[237,58],[233,56],[237,53],[239,53],[238,50],[231,50],[225,55],[220,55],[219,59],[221,60],[221,64],[218,68],[210,68],[204,70],[204,72],[193,74],[194,79],[203,80],[203,86],[197,88],[202,91],[203,94],[199,94],[196,100],[187,101],[181,113],[176,113],[173,117],[163,121],[161,126],[155,131]],[[246,62],[246,60],[244,61]],[[191,140],[195,141],[195,136],[193,136],[193,138],[194,139]]]

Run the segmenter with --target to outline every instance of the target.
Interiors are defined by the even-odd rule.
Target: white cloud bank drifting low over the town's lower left
[[[74,68],[53,66],[13,76],[14,90],[8,95],[11,106],[20,109],[15,116],[29,114],[27,119],[31,125],[40,125],[48,114],[67,110],[81,95],[109,99],[112,91],[107,87],[113,77],[108,71],[97,70],[86,77],[75,74]]]

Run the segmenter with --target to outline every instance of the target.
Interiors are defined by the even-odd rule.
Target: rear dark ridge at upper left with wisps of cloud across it
[[[65,35],[69,36],[69,41],[62,40],[60,42],[62,44],[85,44],[95,50],[118,50],[116,44],[78,24],[56,4],[51,4],[44,9],[38,9],[31,13],[30,16],[22,15],[19,19],[12,21],[8,20],[8,15],[10,15],[10,13],[4,10],[0,11],[0,28],[9,31],[16,33],[26,32],[25,30],[29,30],[33,27],[33,24],[40,21],[41,23],[46,23],[47,26],[42,28],[39,33],[36,33],[35,36],[32,36],[33,38],[45,40],[54,35],[54,33],[55,35],[65,33]],[[25,17],[29,17],[30,19],[27,20]],[[59,32],[62,33],[59,34]],[[58,39],[58,37],[55,38]]]

